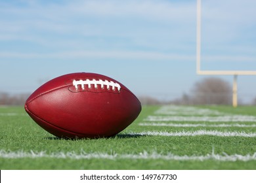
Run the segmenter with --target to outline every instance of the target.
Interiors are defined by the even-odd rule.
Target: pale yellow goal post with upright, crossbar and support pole
[[[256,75],[256,71],[203,71],[201,70],[201,22],[202,5],[201,0],[196,1],[196,73],[198,75],[233,75],[232,105],[238,106],[238,75]]]

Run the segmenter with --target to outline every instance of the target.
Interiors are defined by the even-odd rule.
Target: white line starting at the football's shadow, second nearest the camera
[[[126,133],[127,135],[141,135],[141,136],[168,136],[168,137],[182,137],[182,136],[201,136],[211,135],[217,137],[256,137],[256,133],[245,133],[240,131],[215,131],[215,130],[198,130],[198,131],[142,131],[140,133]]]

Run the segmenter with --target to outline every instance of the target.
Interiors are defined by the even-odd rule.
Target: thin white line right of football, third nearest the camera
[[[169,126],[169,127],[256,127],[256,124],[173,124],[173,123],[140,123],[141,126]]]

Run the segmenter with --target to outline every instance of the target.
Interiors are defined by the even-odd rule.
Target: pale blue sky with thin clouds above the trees
[[[202,0],[202,69],[256,71],[256,1]],[[171,100],[196,82],[196,0],[0,0],[0,92],[32,93],[56,76],[110,76]],[[223,78],[232,85],[232,76]],[[256,97],[238,76],[238,97]]]

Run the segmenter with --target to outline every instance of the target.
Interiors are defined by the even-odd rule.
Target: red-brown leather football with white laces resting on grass
[[[25,110],[56,137],[116,135],[140,114],[139,99],[123,84],[95,73],[59,76],[28,97]]]

